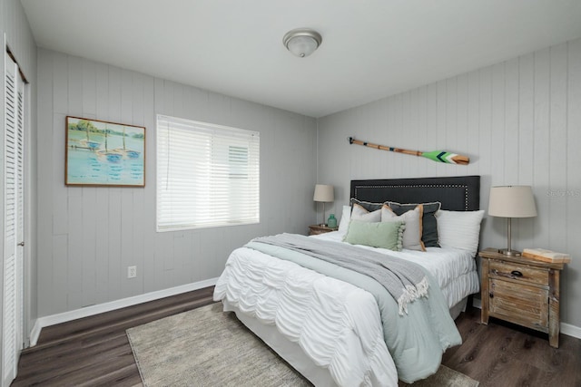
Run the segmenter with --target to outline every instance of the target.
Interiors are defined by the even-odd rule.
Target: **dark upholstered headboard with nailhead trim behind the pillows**
[[[442,209],[474,211],[480,209],[480,177],[351,180],[351,198],[372,203],[439,201]]]

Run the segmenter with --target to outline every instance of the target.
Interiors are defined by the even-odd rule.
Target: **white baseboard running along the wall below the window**
[[[155,292],[145,293],[143,295],[133,295],[132,297],[122,298],[120,300],[115,300],[108,303],[85,306],[84,308],[72,310],[69,312],[39,317],[36,319],[36,322],[34,323],[33,329],[30,333],[30,346],[34,347],[34,345],[38,343],[40,332],[46,326],[62,324],[94,314],[111,312],[113,310],[122,309],[127,306],[139,305],[149,301],[159,300],[160,298],[170,297],[172,295],[181,295],[182,293],[192,292],[193,290],[199,290],[204,287],[216,285],[217,281],[217,277],[211,278],[204,281],[194,282],[192,284],[180,285],[170,287],[169,289],[162,289]]]

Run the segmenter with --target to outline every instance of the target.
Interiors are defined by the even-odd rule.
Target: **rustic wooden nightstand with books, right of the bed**
[[[526,256],[505,256],[497,249],[480,251],[482,259],[482,324],[488,317],[548,334],[559,346],[559,278],[563,263],[536,261]]]

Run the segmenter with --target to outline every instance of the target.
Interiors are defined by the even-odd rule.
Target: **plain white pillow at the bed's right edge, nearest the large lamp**
[[[461,248],[476,256],[484,209],[478,211],[439,209],[435,216],[438,220],[439,246]]]

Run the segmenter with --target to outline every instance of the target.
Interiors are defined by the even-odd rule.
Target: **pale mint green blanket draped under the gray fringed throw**
[[[318,242],[343,246],[337,242]],[[402,382],[415,382],[437,372],[442,353],[462,343],[438,282],[423,267],[428,279],[428,297],[416,298],[408,305],[409,314],[400,315],[398,302],[384,285],[369,276],[286,247],[258,241],[251,241],[246,247],[359,286],[373,295],[378,303],[384,339]]]

